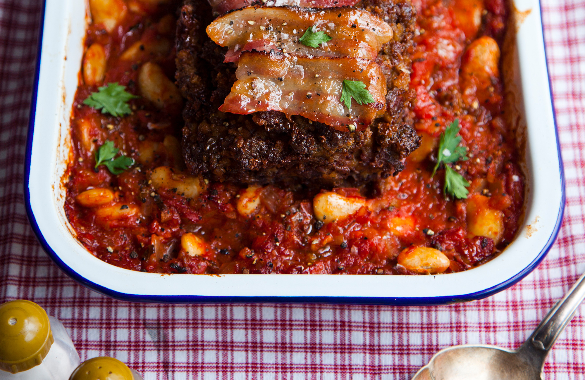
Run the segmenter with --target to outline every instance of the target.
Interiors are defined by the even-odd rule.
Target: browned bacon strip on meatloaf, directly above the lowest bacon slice
[[[299,38],[314,27],[332,40],[319,47]],[[249,6],[227,13],[207,27],[208,36],[228,46],[226,62],[236,62],[243,51],[277,50],[303,57],[355,57],[373,60],[393,37],[390,25],[364,9]]]

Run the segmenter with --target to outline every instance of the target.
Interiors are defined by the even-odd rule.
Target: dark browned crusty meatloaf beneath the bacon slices
[[[387,113],[366,130],[349,133],[274,111],[219,112],[236,81],[236,65],[223,63],[225,48],[205,34],[212,21],[207,1],[184,1],[177,23],[177,83],[187,99],[183,156],[191,174],[213,181],[327,187],[359,186],[402,170],[401,160],[419,146],[417,133],[404,122],[412,100],[408,53],[414,11],[408,0],[364,0],[356,6],[386,19],[394,40],[377,58],[387,78]]]

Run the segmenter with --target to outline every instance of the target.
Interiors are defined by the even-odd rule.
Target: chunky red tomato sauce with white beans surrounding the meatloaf
[[[88,27],[85,46],[103,47],[105,71],[96,84],[81,75],[71,116],[74,159],[65,210],[96,257],[156,273],[428,274],[476,267],[514,239],[524,175],[504,117],[502,0],[413,2],[418,32],[411,88],[417,100],[409,117],[421,147],[404,171],[380,184],[376,196],[366,198],[364,189],[324,190],[357,205],[331,222],[315,217],[318,194],[181,174],[180,99],[132,99],[132,113],[118,118],[84,105],[110,82],[132,94],[146,91],[140,70],[148,62],[174,78],[178,4],[141,4],[119,0],[123,12],[112,30],[106,21]],[[99,72],[99,64],[86,57],[82,70]],[[452,168],[470,183],[466,199],[445,195],[443,166],[431,177],[440,135],[456,119],[469,159]],[[136,164],[119,175],[104,165],[94,168],[95,153],[106,141]],[[154,186],[153,173],[166,175],[168,185]],[[184,184],[196,194],[181,190]]]

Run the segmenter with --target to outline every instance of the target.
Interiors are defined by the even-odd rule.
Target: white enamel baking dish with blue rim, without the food
[[[27,212],[44,250],[76,281],[113,298],[142,302],[343,302],[442,304],[484,298],[534,270],[552,246],[565,205],[562,162],[550,96],[538,0],[528,11],[503,66],[514,83],[514,108],[526,137],[526,213],[518,236],[487,264],[455,274],[160,275],[106,264],[74,237],[61,177],[70,153],[69,119],[83,52],[87,4],[46,0],[26,153]],[[510,20],[510,25],[514,22]],[[514,45],[514,44],[512,44]]]

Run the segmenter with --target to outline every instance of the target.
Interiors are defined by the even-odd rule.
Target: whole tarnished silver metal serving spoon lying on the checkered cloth
[[[463,344],[439,351],[412,380],[541,380],[546,355],[585,298],[585,274],[518,350]]]

